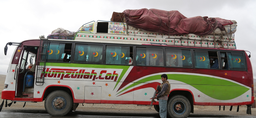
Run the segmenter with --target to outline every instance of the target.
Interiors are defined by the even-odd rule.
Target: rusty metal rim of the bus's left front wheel
[[[60,110],[63,110],[65,107],[66,107],[66,104],[67,104],[67,101],[65,98],[63,97],[55,97],[53,100],[52,100],[52,108],[56,111],[60,111]]]

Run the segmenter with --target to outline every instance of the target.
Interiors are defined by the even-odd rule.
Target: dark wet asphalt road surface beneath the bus
[[[49,115],[45,110],[20,110],[20,109],[4,109],[0,112],[1,118],[60,118]],[[76,111],[70,112],[61,118],[160,118],[158,113],[106,113],[106,112],[86,112]],[[190,114],[188,118],[255,118],[255,115],[223,115],[213,114],[209,111]]]

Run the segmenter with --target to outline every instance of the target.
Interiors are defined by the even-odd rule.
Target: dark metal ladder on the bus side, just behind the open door
[[[44,72],[46,63],[46,54],[49,42],[44,37],[40,38],[39,54],[38,54],[38,66],[36,68],[36,85],[44,85]]]

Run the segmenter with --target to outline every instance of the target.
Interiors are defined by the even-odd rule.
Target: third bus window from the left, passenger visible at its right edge
[[[106,47],[106,64],[132,65],[132,47],[108,46]]]

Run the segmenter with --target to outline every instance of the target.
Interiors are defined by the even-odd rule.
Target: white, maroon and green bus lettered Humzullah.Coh
[[[150,105],[162,74],[171,84],[172,118],[188,117],[194,105],[247,105],[249,113],[254,102],[250,55],[236,49],[232,35],[166,35],[93,21],[74,37],[9,42],[5,55],[7,45],[17,47],[2,99],[44,101],[52,116],[75,111],[79,103]],[[153,105],[159,112],[158,101]]]

